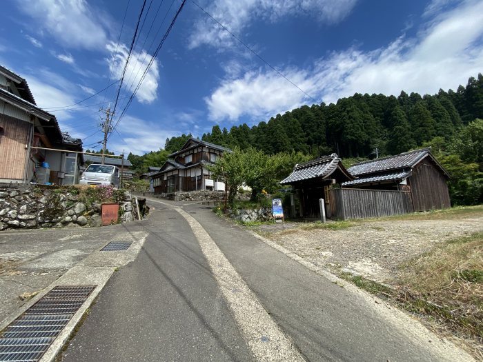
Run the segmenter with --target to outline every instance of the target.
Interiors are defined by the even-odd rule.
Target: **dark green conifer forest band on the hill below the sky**
[[[380,155],[388,155],[421,146],[434,137],[449,140],[476,118],[483,118],[482,74],[470,78],[456,92],[440,90],[423,96],[401,92],[397,98],[356,93],[337,104],[304,105],[277,114],[253,128],[243,124],[221,130],[215,125],[202,139],[231,148],[251,146],[268,154],[336,152],[340,157],[368,157],[375,148]]]

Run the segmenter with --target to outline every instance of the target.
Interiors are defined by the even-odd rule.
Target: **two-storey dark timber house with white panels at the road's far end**
[[[177,191],[224,191],[225,184],[211,177],[208,165],[215,163],[228,148],[190,138],[178,152],[168,155],[159,172],[152,175],[155,194]]]

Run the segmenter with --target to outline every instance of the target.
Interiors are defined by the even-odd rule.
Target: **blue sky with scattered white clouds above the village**
[[[154,0],[126,68],[109,150],[143,154],[163,148],[166,137],[255,125],[314,99],[455,90],[483,72],[481,0],[197,2],[298,88],[187,1],[119,119],[181,4]],[[59,107],[119,79],[142,1],[2,5],[0,64],[27,79],[37,105],[56,114],[62,130],[99,149],[99,108],[114,105],[117,84]]]

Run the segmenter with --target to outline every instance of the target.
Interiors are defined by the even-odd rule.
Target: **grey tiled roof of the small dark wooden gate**
[[[302,180],[328,177],[337,169],[339,162],[339,157],[333,153],[330,156],[300,163],[299,165],[295,165],[293,172],[286,179],[280,181],[280,184],[288,185]]]

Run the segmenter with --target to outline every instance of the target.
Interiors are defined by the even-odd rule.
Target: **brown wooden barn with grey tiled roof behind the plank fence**
[[[431,154],[431,148],[361,162],[348,169],[355,179],[343,188],[400,190],[411,193],[415,211],[449,208],[449,174]]]

